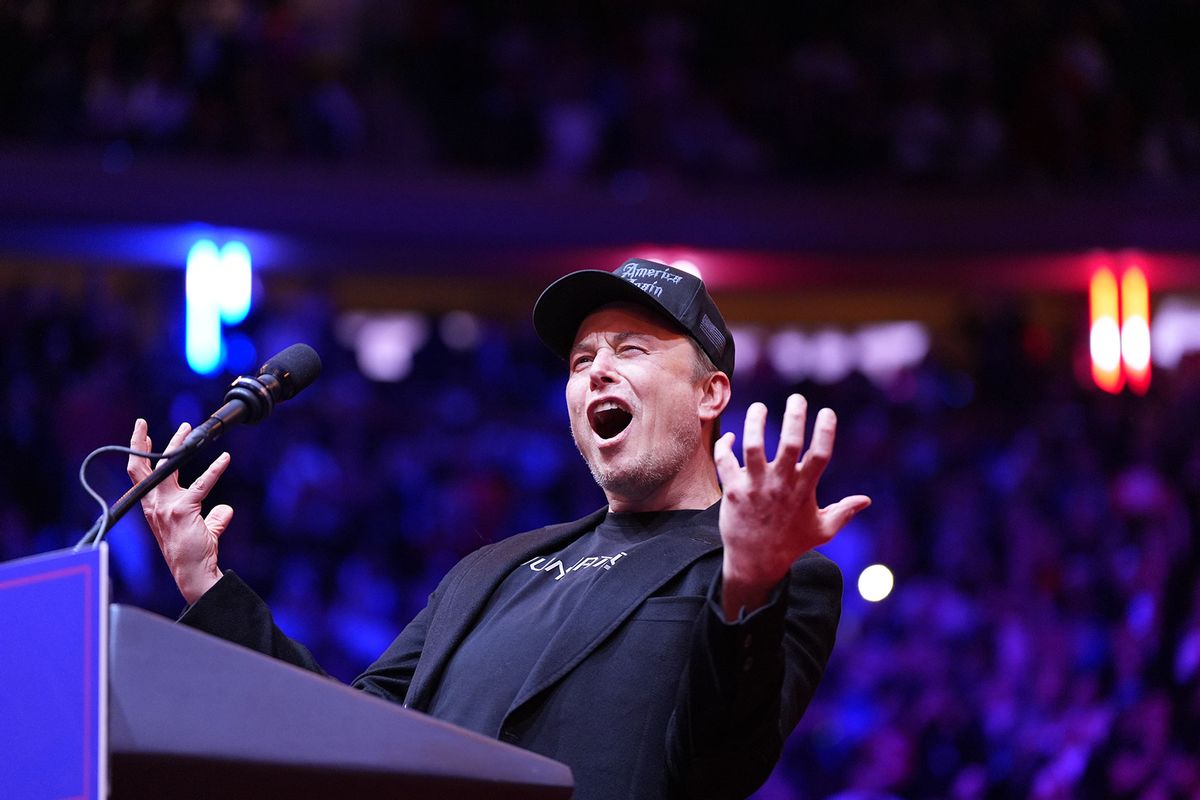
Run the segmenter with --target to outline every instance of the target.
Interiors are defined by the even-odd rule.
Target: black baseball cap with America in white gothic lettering
[[[554,355],[566,359],[584,318],[613,302],[631,302],[666,317],[696,341],[718,369],[733,378],[733,336],[704,282],[644,258],[628,259],[612,272],[564,275],[538,297],[533,326]]]

